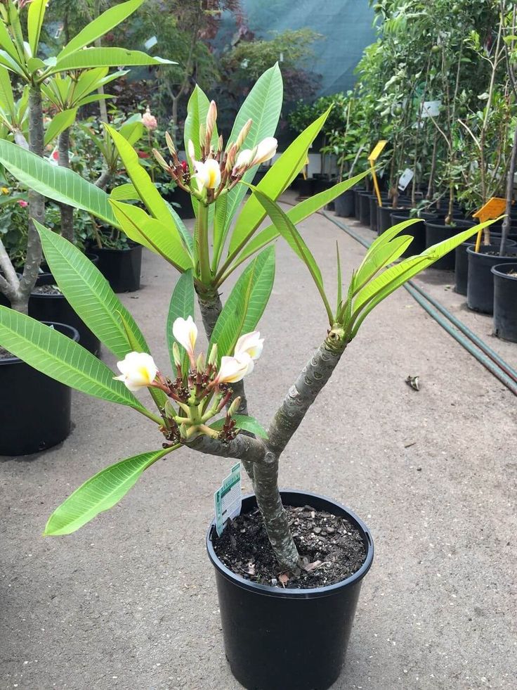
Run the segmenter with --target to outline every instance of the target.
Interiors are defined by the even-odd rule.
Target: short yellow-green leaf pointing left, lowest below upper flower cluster
[[[114,214],[129,238],[162,256],[178,271],[183,272],[192,268],[192,258],[185,250],[183,238],[174,226],[170,214],[169,223],[164,224],[150,217],[138,206],[122,201],[112,201],[111,204]]]

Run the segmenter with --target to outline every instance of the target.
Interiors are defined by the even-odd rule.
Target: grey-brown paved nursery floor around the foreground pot
[[[348,274],[360,262],[364,249],[321,215],[301,229],[328,285],[336,239]],[[517,366],[517,345],[490,338],[490,318],[466,312],[442,277],[429,271],[419,282]],[[145,253],[143,289],[122,295],[164,369],[175,280]],[[319,299],[280,241],[263,357],[247,382],[261,421],[325,337]],[[335,690],[517,687],[515,411],[516,397],[405,290],[348,347],[281,464],[282,485],[331,495],[374,536]],[[60,447],[0,459],[0,689],[239,688],[204,551],[231,462],[173,454],[110,513],[76,535],[42,539],[48,514],[86,478],[161,444],[136,412],[79,394],[73,419]]]

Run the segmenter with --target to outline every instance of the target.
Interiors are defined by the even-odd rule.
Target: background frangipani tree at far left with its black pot
[[[25,0],[19,0],[18,3],[7,0],[1,4],[0,47],[3,53],[0,60],[2,84],[0,106],[4,113],[2,118],[4,124],[10,124],[8,129],[15,142],[4,140],[1,143],[11,143],[15,155],[28,150],[34,155],[35,160],[40,160],[44,155],[46,137],[47,141],[51,141],[53,137],[58,136],[70,126],[70,112],[65,115],[58,113],[48,124],[46,132],[44,129],[44,84],[54,75],[72,70],[110,68],[121,63],[153,65],[162,62],[160,58],[151,58],[138,51],[86,47],[133,13],[142,1],[129,0],[110,8],[79,32],[57,56],[44,60],[38,57],[38,49],[48,0],[32,0],[30,4]],[[19,106],[16,106],[14,101],[10,75],[15,75],[26,84],[28,141],[22,129],[18,127],[20,124]],[[67,84],[65,84],[66,88]],[[55,177],[58,172],[54,167],[52,170],[52,176]],[[64,170],[63,168],[62,172]],[[15,174],[14,177],[20,176]],[[34,223],[45,222],[45,196],[34,186],[27,185],[27,187],[29,190],[27,240],[24,252],[25,264],[21,275],[15,271],[13,262],[0,238],[0,291],[10,302],[13,311],[25,314],[41,263],[41,243]],[[63,202],[62,199],[58,201]],[[56,324],[55,328],[60,328],[71,338],[78,337],[77,331],[71,326]],[[62,441],[70,430],[70,390],[47,376],[41,376],[39,372],[13,356],[13,353],[7,351],[1,354],[0,389],[6,398],[1,400],[4,414],[1,419],[0,453],[30,453]],[[16,385],[13,385],[13,381]],[[48,401],[44,414],[37,396],[23,395],[22,390],[27,388],[39,390],[39,394]],[[27,428],[27,420],[30,420],[29,428]]]

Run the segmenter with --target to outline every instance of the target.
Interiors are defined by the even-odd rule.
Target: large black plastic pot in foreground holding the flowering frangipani
[[[347,580],[315,589],[278,589],[235,575],[219,561],[212,546],[215,524],[207,534],[209,558],[216,570],[226,658],[235,678],[248,690],[325,690],[343,667],[355,607],[374,557],[367,526],[339,503],[317,494],[282,491],[290,506],[310,504],[348,518],[362,533],[366,558]],[[256,508],[254,496],[242,512]]]

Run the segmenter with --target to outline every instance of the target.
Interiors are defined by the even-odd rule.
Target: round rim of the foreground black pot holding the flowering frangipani
[[[247,589],[250,592],[255,592],[256,594],[262,594],[264,596],[276,596],[282,599],[314,599],[319,596],[329,596],[331,594],[334,594],[334,592],[336,592],[337,590],[343,589],[343,587],[350,587],[356,582],[362,580],[362,578],[365,577],[365,575],[367,574],[368,570],[372,567],[372,562],[374,559],[374,542],[372,539],[372,535],[369,532],[369,529],[361,520],[361,518],[355,515],[353,511],[346,508],[346,506],[343,506],[341,503],[338,503],[337,501],[334,501],[334,499],[331,499],[327,496],[322,496],[321,494],[315,494],[313,492],[308,491],[301,491],[299,489],[280,489],[280,494],[300,494],[308,497],[309,499],[316,498],[319,500],[327,501],[330,504],[344,511],[346,513],[347,518],[350,518],[352,522],[355,523],[355,526],[363,533],[363,539],[364,542],[366,542],[365,562],[362,564],[359,570],[353,573],[353,575],[350,575],[350,577],[347,577],[346,580],[341,580],[341,582],[336,582],[335,584],[328,584],[325,587],[310,587],[308,589],[280,589],[279,587],[273,587],[270,584],[258,584],[256,582],[250,582],[249,580],[245,580],[244,577],[242,577],[241,575],[233,573],[233,571],[230,570],[230,568],[227,568],[216,555],[214,546],[211,542],[211,536],[216,528],[215,518],[211,520],[206,538],[208,555],[214,568],[216,568],[216,570],[218,570],[219,573],[221,573],[221,575],[223,575],[223,577],[225,577],[227,580],[231,580],[233,584],[235,584],[237,587],[242,587],[242,589]],[[242,497],[242,499],[250,499],[254,498],[254,496],[255,494],[253,493],[246,494]]]

